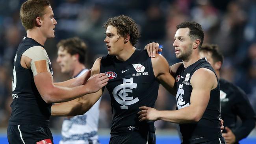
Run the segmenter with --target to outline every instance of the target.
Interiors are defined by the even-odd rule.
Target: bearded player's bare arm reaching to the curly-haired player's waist
[[[203,75],[203,77],[202,77]],[[154,108],[140,107],[139,116],[142,120],[165,120],[173,123],[198,122],[210,100],[210,91],[217,87],[215,74],[206,68],[198,69],[191,77],[190,105],[176,111],[157,111]]]

